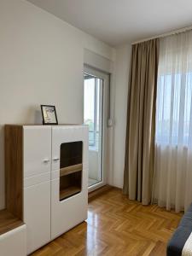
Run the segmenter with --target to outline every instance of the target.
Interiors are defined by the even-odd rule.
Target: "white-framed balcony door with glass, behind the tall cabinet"
[[[108,74],[84,68],[84,124],[89,125],[89,191],[106,183]]]

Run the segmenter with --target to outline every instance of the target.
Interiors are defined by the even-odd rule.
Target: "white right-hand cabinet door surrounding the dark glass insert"
[[[52,127],[51,170],[51,239],[60,236],[87,218],[88,189],[88,127],[67,125]],[[60,201],[60,151],[61,143],[83,142],[82,185],[79,194]],[[65,157],[65,156],[64,156]],[[54,160],[55,159],[55,160]],[[69,165],[70,166],[70,165]],[[63,177],[62,177],[63,178]],[[69,186],[70,188],[70,186]]]

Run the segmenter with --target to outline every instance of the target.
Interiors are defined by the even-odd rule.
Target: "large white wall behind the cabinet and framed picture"
[[[0,208],[3,125],[40,123],[54,104],[60,123],[83,122],[84,49],[114,60],[114,49],[24,0],[0,1]]]

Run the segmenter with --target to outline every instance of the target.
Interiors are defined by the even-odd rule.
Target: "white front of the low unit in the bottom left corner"
[[[0,236],[1,256],[26,256],[26,225]]]

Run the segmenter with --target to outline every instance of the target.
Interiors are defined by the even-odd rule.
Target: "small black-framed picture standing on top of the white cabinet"
[[[41,105],[44,125],[58,125],[55,106]]]

